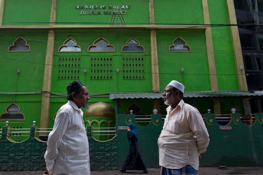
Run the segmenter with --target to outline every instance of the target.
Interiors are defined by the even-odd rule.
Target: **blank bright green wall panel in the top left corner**
[[[2,25],[49,24],[51,4],[52,0],[7,0]]]

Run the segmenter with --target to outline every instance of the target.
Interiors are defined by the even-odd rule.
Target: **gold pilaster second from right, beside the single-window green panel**
[[[202,0],[202,4],[203,4],[204,24],[210,24],[207,0]],[[206,46],[207,46],[207,59],[208,59],[208,67],[210,74],[211,90],[218,90],[211,27],[207,27],[207,29],[205,30],[205,38],[206,38]],[[214,114],[221,114],[219,99],[213,99],[213,104],[214,104]]]

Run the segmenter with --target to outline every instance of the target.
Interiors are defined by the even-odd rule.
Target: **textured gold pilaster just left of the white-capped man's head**
[[[154,5],[153,0],[149,0],[149,22],[150,25],[155,24],[154,19]],[[150,30],[150,45],[151,45],[151,73],[152,73],[152,90],[160,90],[159,82],[159,65],[158,65],[158,53],[157,53],[157,32],[156,30]],[[153,101],[153,108],[157,109],[160,113],[160,101]]]

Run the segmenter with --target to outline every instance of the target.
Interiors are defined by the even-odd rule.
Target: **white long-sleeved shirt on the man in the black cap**
[[[45,152],[50,175],[90,175],[88,137],[83,112],[68,101],[57,112]]]

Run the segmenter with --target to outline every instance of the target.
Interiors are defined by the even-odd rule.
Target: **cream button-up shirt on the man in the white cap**
[[[158,138],[160,166],[180,169],[191,165],[199,168],[200,153],[206,152],[209,135],[200,112],[183,100],[177,107],[167,110],[164,127]]]

